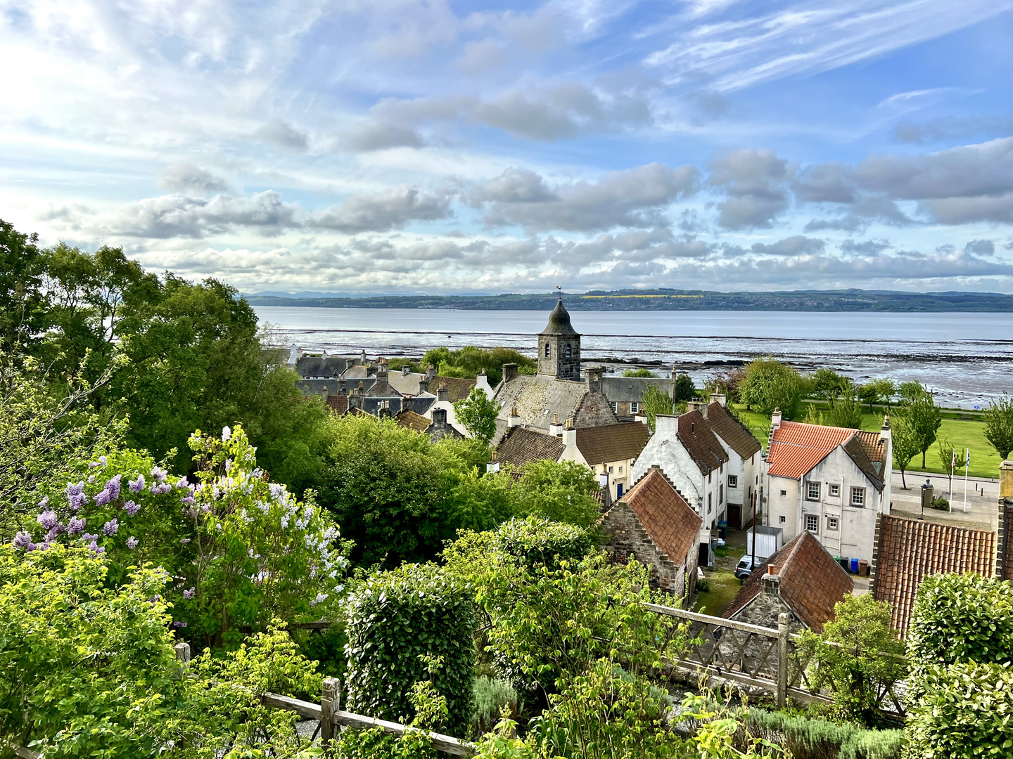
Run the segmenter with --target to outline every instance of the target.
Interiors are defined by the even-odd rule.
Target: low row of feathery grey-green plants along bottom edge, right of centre
[[[904,731],[867,730],[783,711],[751,708],[748,732],[790,749],[793,759],[899,759]]]

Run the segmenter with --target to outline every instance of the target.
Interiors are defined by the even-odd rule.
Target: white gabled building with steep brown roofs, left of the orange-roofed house
[[[752,520],[752,496],[763,466],[760,442],[725,408],[724,396],[688,405],[684,414],[654,418],[654,434],[633,467],[633,478],[659,467],[711,530]],[[705,537],[704,541],[709,541]]]

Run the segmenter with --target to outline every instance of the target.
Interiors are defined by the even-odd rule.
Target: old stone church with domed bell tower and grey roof
[[[570,324],[562,299],[537,335],[538,372],[521,374],[516,363],[504,363],[502,382],[493,400],[499,406],[493,443],[513,427],[548,433],[553,420],[572,420],[575,429],[618,424],[609,399],[602,393],[601,367],[590,368],[580,381],[580,335]]]

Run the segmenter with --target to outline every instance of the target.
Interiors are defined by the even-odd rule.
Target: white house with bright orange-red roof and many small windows
[[[872,560],[876,518],[890,511],[889,417],[878,432],[771,420],[766,523],[809,532],[834,556]]]

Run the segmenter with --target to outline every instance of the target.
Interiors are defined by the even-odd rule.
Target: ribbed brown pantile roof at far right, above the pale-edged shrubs
[[[989,577],[995,567],[996,535],[921,519],[882,514],[872,556],[872,593],[892,607],[890,626],[908,635],[915,594],[926,575],[973,572]]]

